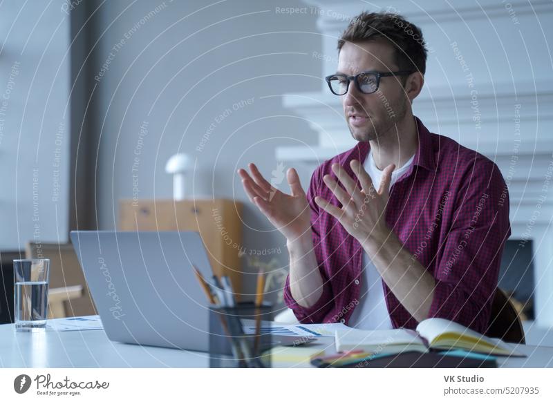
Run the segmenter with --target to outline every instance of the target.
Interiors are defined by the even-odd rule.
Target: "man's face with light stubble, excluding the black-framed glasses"
[[[357,75],[362,71],[388,73],[399,70],[394,61],[394,48],[386,41],[367,41],[342,46],[337,73]],[[377,140],[392,133],[408,110],[409,98],[402,86],[403,77],[381,77],[375,93],[364,94],[350,82],[342,95],[344,115],[351,134],[357,141]]]

